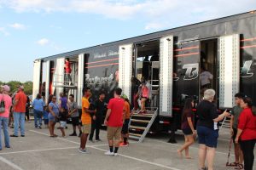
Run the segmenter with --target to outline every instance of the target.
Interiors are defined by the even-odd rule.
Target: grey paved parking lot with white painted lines
[[[138,144],[131,141],[129,147],[121,147],[119,156],[104,156],[108,150],[106,132],[102,130],[102,142],[88,142],[90,154],[80,154],[78,137],[49,138],[48,129],[34,129],[33,123],[26,122],[26,137],[11,138],[11,149],[0,151],[1,170],[196,170],[197,144],[190,148],[193,159],[180,159],[177,147],[183,144],[183,136],[177,135],[177,144],[166,143],[168,134],[159,134],[146,138]],[[10,129],[10,133],[13,129]],[[61,135],[61,132],[55,129]],[[67,134],[72,133],[68,125]],[[2,139],[3,141],[3,139]],[[220,132],[215,157],[215,169],[234,169],[225,167],[229,147],[228,132]],[[230,156],[234,160],[234,155]],[[254,167],[255,167],[254,160]],[[256,167],[255,167],[256,168]]]

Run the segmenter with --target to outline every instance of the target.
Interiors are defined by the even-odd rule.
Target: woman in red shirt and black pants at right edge
[[[244,97],[240,103],[241,115],[238,118],[238,127],[235,142],[240,144],[244,156],[244,169],[253,170],[256,143],[256,111],[253,109],[252,99]]]

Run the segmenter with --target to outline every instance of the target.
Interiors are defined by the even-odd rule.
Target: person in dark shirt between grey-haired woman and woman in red
[[[236,169],[243,169],[243,155],[240,148],[240,144],[236,144],[236,134],[237,134],[237,125],[238,125],[238,117],[241,114],[242,108],[240,106],[241,99],[244,97],[243,94],[235,94],[235,103],[236,105],[232,108],[231,118],[230,118],[230,133],[234,142],[235,148],[235,161],[230,163],[230,167],[236,167]]]

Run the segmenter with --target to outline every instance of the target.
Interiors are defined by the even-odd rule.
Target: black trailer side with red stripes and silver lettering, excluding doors
[[[85,54],[84,59],[84,86],[92,89],[93,99],[97,98],[99,90],[105,90],[107,101],[113,97],[113,89],[118,87],[119,77],[119,47],[124,44],[138,44],[160,40],[162,37],[172,36],[173,42],[173,85],[172,85],[172,117],[159,116],[160,122],[169,126],[172,122],[176,129],[179,127],[180,114],[185,96],[194,96],[201,99],[200,70],[202,43],[212,43],[214,48],[211,52],[214,56],[212,61],[214,82],[212,87],[217,92],[217,104],[219,97],[219,39],[230,35],[240,37],[240,77],[239,89],[242,93],[253,98],[256,105],[256,12],[236,14],[217,20],[209,20],[190,26],[154,32],[139,37],[131,37],[125,40],[110,42],[90,48],[83,48],[65,54],[49,56],[43,60],[55,60],[61,57],[76,57]],[[209,43],[208,43],[208,42]],[[209,45],[205,45],[207,48]],[[212,46],[212,47],[213,47]],[[136,46],[134,46],[136,47]],[[207,48],[204,50],[207,51]],[[133,56],[134,57],[134,56]],[[136,71],[132,71],[134,74]],[[161,96],[159,96],[161,98]],[[233,96],[230,96],[232,99]],[[161,126],[158,126],[161,127]],[[170,126],[169,126],[170,127]]]

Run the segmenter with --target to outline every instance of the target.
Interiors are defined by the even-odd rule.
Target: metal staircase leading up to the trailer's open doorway
[[[147,114],[133,113],[129,127],[129,138],[137,140],[139,143],[143,142],[157,114],[158,108],[154,111],[147,111]]]

